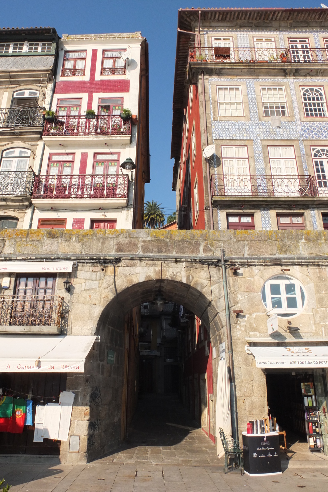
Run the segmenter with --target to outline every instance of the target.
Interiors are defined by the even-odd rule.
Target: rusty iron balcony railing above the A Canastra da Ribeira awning
[[[60,296],[0,296],[0,326],[60,326]]]

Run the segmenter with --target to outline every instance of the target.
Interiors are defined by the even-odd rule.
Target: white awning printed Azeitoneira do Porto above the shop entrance
[[[327,368],[325,347],[247,347],[255,356],[257,368]]]

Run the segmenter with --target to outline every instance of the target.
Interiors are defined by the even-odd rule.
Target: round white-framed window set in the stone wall
[[[262,302],[268,311],[289,318],[299,314],[305,305],[305,289],[295,278],[278,275],[262,287]]]

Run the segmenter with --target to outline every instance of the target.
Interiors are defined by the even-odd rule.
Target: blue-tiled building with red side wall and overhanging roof
[[[327,227],[326,15],[179,11],[171,157],[180,228]]]

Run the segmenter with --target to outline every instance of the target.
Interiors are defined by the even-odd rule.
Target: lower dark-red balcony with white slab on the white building
[[[129,178],[127,175],[83,174],[35,176],[33,203],[38,200],[38,207],[56,207],[65,204],[65,208],[89,209],[105,203],[107,207],[117,207],[128,203]],[[72,199],[72,200],[69,200]],[[110,202],[108,202],[110,200]],[[41,204],[42,202],[42,204]]]

